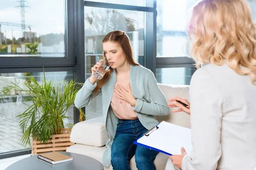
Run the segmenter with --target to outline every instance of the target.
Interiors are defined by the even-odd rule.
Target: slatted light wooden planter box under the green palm
[[[67,147],[75,144],[70,142],[70,129],[61,129],[61,134],[52,135],[52,139],[48,140],[46,144],[43,142],[32,141],[32,155],[46,152],[66,151]]]

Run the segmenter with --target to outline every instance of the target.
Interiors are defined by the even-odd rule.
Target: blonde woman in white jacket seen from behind
[[[170,156],[166,170],[253,170],[256,34],[247,1],[201,0],[188,34],[197,65],[209,64],[191,80],[192,152]]]

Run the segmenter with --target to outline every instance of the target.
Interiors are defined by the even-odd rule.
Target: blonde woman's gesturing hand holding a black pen
[[[184,106],[184,105],[182,105],[181,103],[179,103],[177,101],[183,102],[187,106]],[[179,108],[179,109],[176,109],[176,110],[174,110],[172,112],[183,111],[183,112],[185,112],[185,113],[190,115],[190,107],[189,107],[190,103],[186,99],[182,99],[180,97],[174,97],[172,99],[169,99],[169,102],[170,102],[170,103],[168,103],[169,108],[175,108],[175,107]]]

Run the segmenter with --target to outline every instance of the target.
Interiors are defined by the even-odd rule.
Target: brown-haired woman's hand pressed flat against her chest
[[[132,95],[130,84],[127,86],[127,88],[128,88],[128,91],[122,88],[121,85],[117,84],[117,86],[114,87],[114,92],[116,93],[116,97],[130,103],[132,106],[135,106],[137,103],[137,100]]]

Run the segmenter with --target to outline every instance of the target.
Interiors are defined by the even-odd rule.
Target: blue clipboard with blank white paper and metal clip
[[[180,136],[184,136],[177,138],[177,133],[180,133]],[[163,121],[148,130],[142,137],[137,139],[134,144],[156,150],[166,155],[180,155],[180,149],[184,147],[186,153],[189,154],[192,150],[191,130]]]

